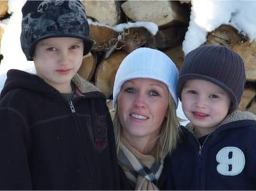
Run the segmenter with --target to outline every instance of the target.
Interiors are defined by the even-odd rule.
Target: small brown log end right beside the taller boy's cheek
[[[83,79],[90,81],[96,70],[96,65],[97,57],[89,52],[89,54],[83,57],[82,65],[77,73],[79,73]]]

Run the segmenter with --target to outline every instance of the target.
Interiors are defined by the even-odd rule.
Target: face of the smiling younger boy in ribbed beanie
[[[182,109],[195,125],[197,137],[212,133],[227,116],[231,104],[225,90],[205,80],[188,80],[181,97]]]

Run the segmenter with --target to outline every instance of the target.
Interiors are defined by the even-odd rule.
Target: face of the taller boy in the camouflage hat
[[[81,67],[83,40],[72,37],[53,37],[35,46],[34,63],[38,76],[59,90],[71,92],[71,79]]]

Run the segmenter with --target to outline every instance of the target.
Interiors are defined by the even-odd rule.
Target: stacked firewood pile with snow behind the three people
[[[113,81],[120,63],[136,48],[157,48],[165,52],[178,69],[182,66],[182,41],[190,22],[190,1],[82,2],[89,18],[89,36],[95,43],[84,57],[79,73],[96,84],[108,99],[112,98]],[[0,1],[0,19],[4,15],[1,9],[4,3],[6,1]],[[204,44],[228,46],[242,56],[247,82],[239,109],[256,114],[256,41],[223,24],[208,33]]]

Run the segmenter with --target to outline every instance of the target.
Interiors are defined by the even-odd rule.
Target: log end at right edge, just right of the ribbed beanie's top
[[[246,79],[256,82],[256,41],[246,41],[244,44],[235,45],[232,49],[244,60]]]

